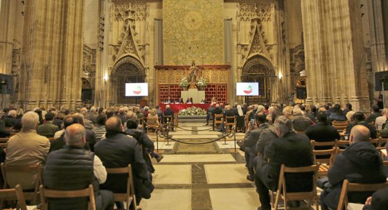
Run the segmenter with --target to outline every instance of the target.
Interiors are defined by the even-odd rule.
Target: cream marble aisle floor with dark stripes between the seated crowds
[[[179,142],[167,143],[164,138],[149,135],[164,159],[154,163],[155,191],[149,200],[141,201],[140,207],[143,210],[257,209],[258,194],[254,183],[246,180],[244,153],[235,147],[234,137],[220,139],[221,132],[203,123],[181,123],[179,127],[186,130],[177,128],[169,133]],[[236,134],[236,141],[243,137],[244,134]],[[212,142],[215,139],[219,140]]]

